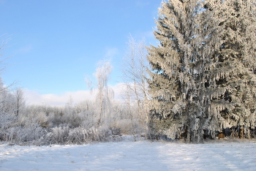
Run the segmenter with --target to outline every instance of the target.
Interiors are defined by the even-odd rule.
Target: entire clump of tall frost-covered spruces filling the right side
[[[148,48],[151,128],[187,142],[255,124],[255,2],[162,2]],[[246,127],[246,128],[247,128]]]

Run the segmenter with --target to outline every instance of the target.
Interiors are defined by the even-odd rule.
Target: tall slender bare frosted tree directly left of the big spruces
[[[148,61],[146,61],[145,39],[137,41],[134,37],[129,37],[128,49],[123,59],[122,72],[124,80],[124,99],[127,105],[135,105],[137,109],[135,115],[131,113],[132,123],[138,120],[143,126],[144,133],[147,132],[148,111],[146,100],[148,99],[148,85],[146,79],[148,74]],[[137,119],[136,119],[137,118]],[[140,132],[140,131],[139,131]]]

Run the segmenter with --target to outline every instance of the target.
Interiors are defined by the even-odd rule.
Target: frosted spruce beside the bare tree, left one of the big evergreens
[[[202,45],[197,36],[200,12],[200,4],[195,0],[162,2],[157,31],[154,31],[159,45],[148,48],[152,69],[148,84],[153,98],[148,103],[152,117],[150,127],[153,132],[172,139],[185,132],[188,142],[203,140],[202,111],[192,102],[197,80],[190,69]]]

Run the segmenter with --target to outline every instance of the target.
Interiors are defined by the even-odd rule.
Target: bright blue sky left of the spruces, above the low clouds
[[[154,18],[161,1],[0,0],[1,39],[11,38],[1,58],[12,56],[1,77],[37,98],[54,99],[86,91],[84,77],[95,72],[97,61],[112,58],[115,86],[129,34],[156,44]]]

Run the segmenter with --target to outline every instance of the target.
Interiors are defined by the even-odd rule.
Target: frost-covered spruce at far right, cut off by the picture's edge
[[[211,112],[217,115],[219,129],[245,126],[249,136],[249,128],[255,128],[256,112],[255,1],[208,0],[204,3],[206,11],[219,18],[218,27],[222,28],[216,35],[222,45],[212,56],[208,75],[216,88],[215,96],[211,96]]]

